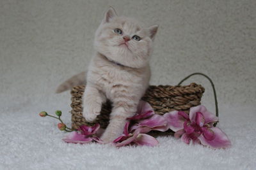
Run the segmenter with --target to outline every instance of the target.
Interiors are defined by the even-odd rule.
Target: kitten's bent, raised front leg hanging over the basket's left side
[[[102,103],[106,102],[106,97],[100,94],[95,87],[87,85],[83,95],[83,116],[87,122],[93,122],[100,114]]]

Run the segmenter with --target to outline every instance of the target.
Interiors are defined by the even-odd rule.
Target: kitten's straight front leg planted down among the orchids
[[[100,139],[105,142],[112,142],[118,138],[124,131],[124,125],[127,122],[127,118],[132,117],[137,110],[137,104],[122,104],[121,106],[115,106],[112,109],[109,125]]]

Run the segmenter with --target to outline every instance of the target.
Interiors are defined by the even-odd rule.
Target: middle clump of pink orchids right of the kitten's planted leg
[[[140,101],[138,112],[134,117],[127,118],[122,136],[116,138],[113,143],[115,146],[124,146],[131,143],[137,145],[156,146],[156,138],[145,134],[150,131],[167,131],[168,123],[163,116],[156,115],[153,108],[145,101]],[[132,125],[129,128],[129,125]]]

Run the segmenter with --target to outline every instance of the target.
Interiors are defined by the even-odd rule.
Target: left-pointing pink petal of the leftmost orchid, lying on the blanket
[[[92,141],[92,138],[86,138],[83,134],[73,131],[66,136],[63,141],[67,143],[89,143]]]

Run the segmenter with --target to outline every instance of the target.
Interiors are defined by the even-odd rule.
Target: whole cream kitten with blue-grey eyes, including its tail
[[[95,33],[93,56],[84,73],[73,76],[58,87],[57,92],[83,83],[83,116],[93,122],[100,114],[102,103],[113,104],[109,125],[101,139],[111,142],[122,134],[128,117],[137,110],[138,103],[150,79],[149,57],[157,25],[143,28],[132,18],[118,17],[113,8],[106,12]],[[84,79],[83,79],[83,78]]]

